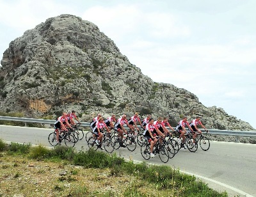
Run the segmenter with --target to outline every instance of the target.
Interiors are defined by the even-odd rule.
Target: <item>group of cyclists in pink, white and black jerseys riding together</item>
[[[59,132],[67,131],[69,127],[72,129],[73,125],[76,125],[74,122],[76,120],[79,123],[79,119],[76,116],[76,112],[72,111],[71,113],[63,113],[62,116],[56,120],[54,123],[54,129],[56,131],[56,144],[59,143],[58,136]],[[127,131],[124,126],[127,126],[129,130]],[[125,147],[123,145],[124,134],[132,134],[135,130],[143,129],[143,137],[150,144],[150,157],[155,157],[153,154],[154,145],[156,145],[159,140],[160,145],[163,143],[163,137],[170,134],[170,130],[173,132],[178,132],[179,138],[177,139],[178,143],[181,147],[184,147],[185,135],[191,132],[193,134],[193,145],[195,145],[195,138],[197,134],[202,133],[200,129],[198,129],[198,125],[207,130],[205,126],[200,122],[200,116],[196,116],[194,120],[188,122],[188,117],[184,116],[182,120],[179,121],[177,127],[173,129],[173,127],[168,122],[168,118],[157,118],[154,120],[150,114],[147,115],[146,118],[140,120],[139,114],[134,113],[134,116],[131,116],[129,120],[127,120],[126,114],[123,114],[120,118],[116,119],[115,114],[112,114],[108,118],[103,118],[102,114],[98,114],[95,118],[93,118],[90,123],[90,127],[93,132],[93,137],[95,139],[95,144],[100,145],[103,138],[102,130],[106,130],[110,134],[111,129],[117,132],[117,137],[119,139],[120,147]],[[140,128],[139,128],[140,126]],[[186,130],[188,127],[188,130]],[[185,148],[185,147],[184,147]]]

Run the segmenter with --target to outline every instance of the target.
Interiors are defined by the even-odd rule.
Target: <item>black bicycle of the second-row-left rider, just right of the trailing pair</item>
[[[103,138],[101,140],[101,142],[99,143],[99,145],[96,144],[95,140],[97,139],[97,136],[95,136],[95,134],[93,134],[93,132],[90,132],[91,136],[88,136],[88,147],[89,148],[93,148],[95,150],[97,149],[102,149],[102,145],[104,147],[104,150],[106,150],[106,152],[108,152],[109,154],[111,154],[114,151],[113,146],[111,145],[111,134],[107,134],[106,132],[103,133]]]

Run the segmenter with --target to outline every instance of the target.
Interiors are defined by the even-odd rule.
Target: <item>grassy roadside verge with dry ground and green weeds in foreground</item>
[[[168,166],[0,139],[0,196],[227,196]]]

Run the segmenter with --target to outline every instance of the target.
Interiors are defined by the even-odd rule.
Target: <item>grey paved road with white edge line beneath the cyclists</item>
[[[47,136],[52,131],[0,125],[0,138],[4,141],[49,146]],[[84,140],[76,144],[77,150],[81,150],[81,146],[88,148]],[[122,148],[116,154],[125,159],[144,161],[139,147],[134,152]],[[163,164],[157,157],[149,162]],[[195,153],[182,149],[167,165],[202,178],[217,191],[226,190],[228,196],[256,196],[256,145],[211,141],[207,152],[199,148]]]

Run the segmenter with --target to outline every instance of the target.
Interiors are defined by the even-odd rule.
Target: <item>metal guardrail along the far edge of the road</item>
[[[24,122],[26,126],[26,122],[32,123],[43,123],[43,124],[54,124],[56,120],[44,120],[44,119],[34,119],[34,118],[18,118],[18,117],[10,117],[10,116],[0,116],[0,120],[9,120],[16,122]],[[89,127],[90,123],[81,122],[83,127]],[[173,128],[175,129],[175,128]],[[221,136],[236,136],[236,142],[238,142],[238,137],[252,137],[256,138],[256,131],[240,131],[240,130],[218,130],[218,129],[209,129],[208,134],[211,135],[221,135]]]

